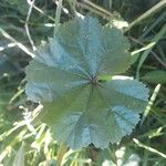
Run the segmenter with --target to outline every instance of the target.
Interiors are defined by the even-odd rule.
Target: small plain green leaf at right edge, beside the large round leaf
[[[142,80],[149,83],[166,83],[166,71],[152,71],[146,73]]]

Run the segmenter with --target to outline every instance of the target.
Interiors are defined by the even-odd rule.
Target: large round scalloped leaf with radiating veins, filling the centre
[[[59,143],[105,148],[138,123],[148,90],[127,76],[114,76],[129,66],[128,46],[120,30],[86,17],[61,24],[35,52],[25,69],[25,92],[43,104],[38,120],[51,126]],[[101,81],[103,75],[112,79]]]

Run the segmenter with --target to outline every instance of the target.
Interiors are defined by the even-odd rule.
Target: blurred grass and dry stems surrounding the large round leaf
[[[135,131],[105,151],[66,149],[51,137],[45,124],[30,125],[37,105],[24,94],[24,68],[35,45],[53,35],[58,4],[56,0],[0,1],[0,165],[165,166],[166,0],[63,1],[61,22],[76,11],[125,25],[133,55],[125,74],[151,90],[151,102]]]

